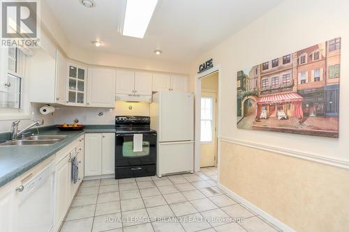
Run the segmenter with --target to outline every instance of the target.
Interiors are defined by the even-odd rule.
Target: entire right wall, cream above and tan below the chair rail
[[[332,6],[331,17],[328,15]],[[193,62],[212,58],[221,68],[221,137],[349,164],[349,73],[341,65],[339,139],[255,130],[236,125],[237,71],[341,36],[341,63],[349,63],[349,1],[285,0]],[[306,24],[304,24],[306,22]],[[251,36],[258,35],[258,36]],[[258,146],[258,145],[257,145]],[[218,158],[219,159],[219,158]],[[221,182],[297,231],[349,231],[349,171],[267,151],[222,144]]]

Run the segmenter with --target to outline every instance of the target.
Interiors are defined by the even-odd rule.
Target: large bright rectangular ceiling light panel
[[[158,0],[127,0],[124,36],[143,38]]]

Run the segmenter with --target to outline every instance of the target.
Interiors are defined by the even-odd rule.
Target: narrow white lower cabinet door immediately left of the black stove
[[[115,165],[115,134],[102,134],[102,175],[114,174]]]

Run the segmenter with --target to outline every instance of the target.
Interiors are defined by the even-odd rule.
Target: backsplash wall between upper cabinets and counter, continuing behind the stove
[[[129,109],[132,107],[132,109]],[[73,119],[79,119],[80,124],[89,125],[113,125],[115,116],[149,116],[149,103],[146,102],[122,102],[117,101],[114,109],[94,107],[60,107],[54,112],[55,124],[73,123]],[[103,116],[98,116],[98,112]]]

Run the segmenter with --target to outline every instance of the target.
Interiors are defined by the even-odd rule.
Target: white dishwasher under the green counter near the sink
[[[54,163],[17,187],[17,232],[51,232],[54,224]]]

